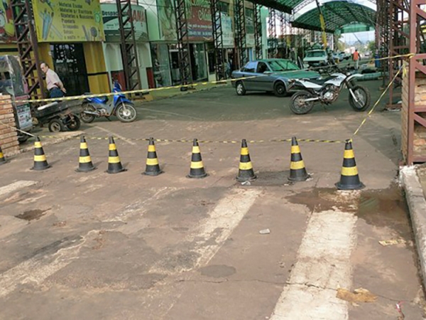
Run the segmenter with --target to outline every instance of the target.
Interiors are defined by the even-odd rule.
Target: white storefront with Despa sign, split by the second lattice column
[[[103,45],[105,63],[109,81],[119,80],[121,87],[126,90],[123,59],[121,55],[119,19],[117,6],[101,4],[102,20],[104,22],[105,43]],[[133,26],[135,31],[136,51],[138,53],[139,74],[143,88],[153,87],[154,79],[151,65],[151,50],[148,43],[148,27],[146,24],[146,10],[143,6],[132,5]]]

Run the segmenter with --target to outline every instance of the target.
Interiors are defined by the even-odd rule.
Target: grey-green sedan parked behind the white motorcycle
[[[300,70],[290,60],[263,59],[247,63],[241,70],[234,71],[231,78],[239,79],[231,82],[237,95],[245,95],[247,91],[266,91],[285,97],[289,93],[290,80],[320,79],[321,76],[320,73]]]

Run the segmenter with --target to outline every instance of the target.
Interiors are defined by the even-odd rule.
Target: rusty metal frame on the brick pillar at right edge
[[[410,1],[410,53],[415,53],[415,57],[408,62],[408,149],[405,159],[408,165],[416,162],[426,162],[426,156],[414,154],[414,130],[415,124],[426,127],[426,119],[421,113],[426,112],[426,105],[415,105],[415,79],[416,72],[426,75],[426,65],[423,65],[423,59],[426,59],[426,53],[420,53],[420,21],[426,21],[426,11],[420,6],[425,6],[426,0]]]

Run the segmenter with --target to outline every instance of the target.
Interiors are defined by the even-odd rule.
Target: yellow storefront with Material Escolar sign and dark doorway
[[[33,1],[41,60],[58,73],[67,95],[107,92],[99,0]]]

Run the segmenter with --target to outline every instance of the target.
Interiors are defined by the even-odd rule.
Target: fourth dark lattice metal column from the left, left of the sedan
[[[222,38],[222,13],[219,10],[219,0],[211,0],[210,11],[212,13],[213,41],[214,41],[214,69],[216,80],[226,79],[224,43]]]

